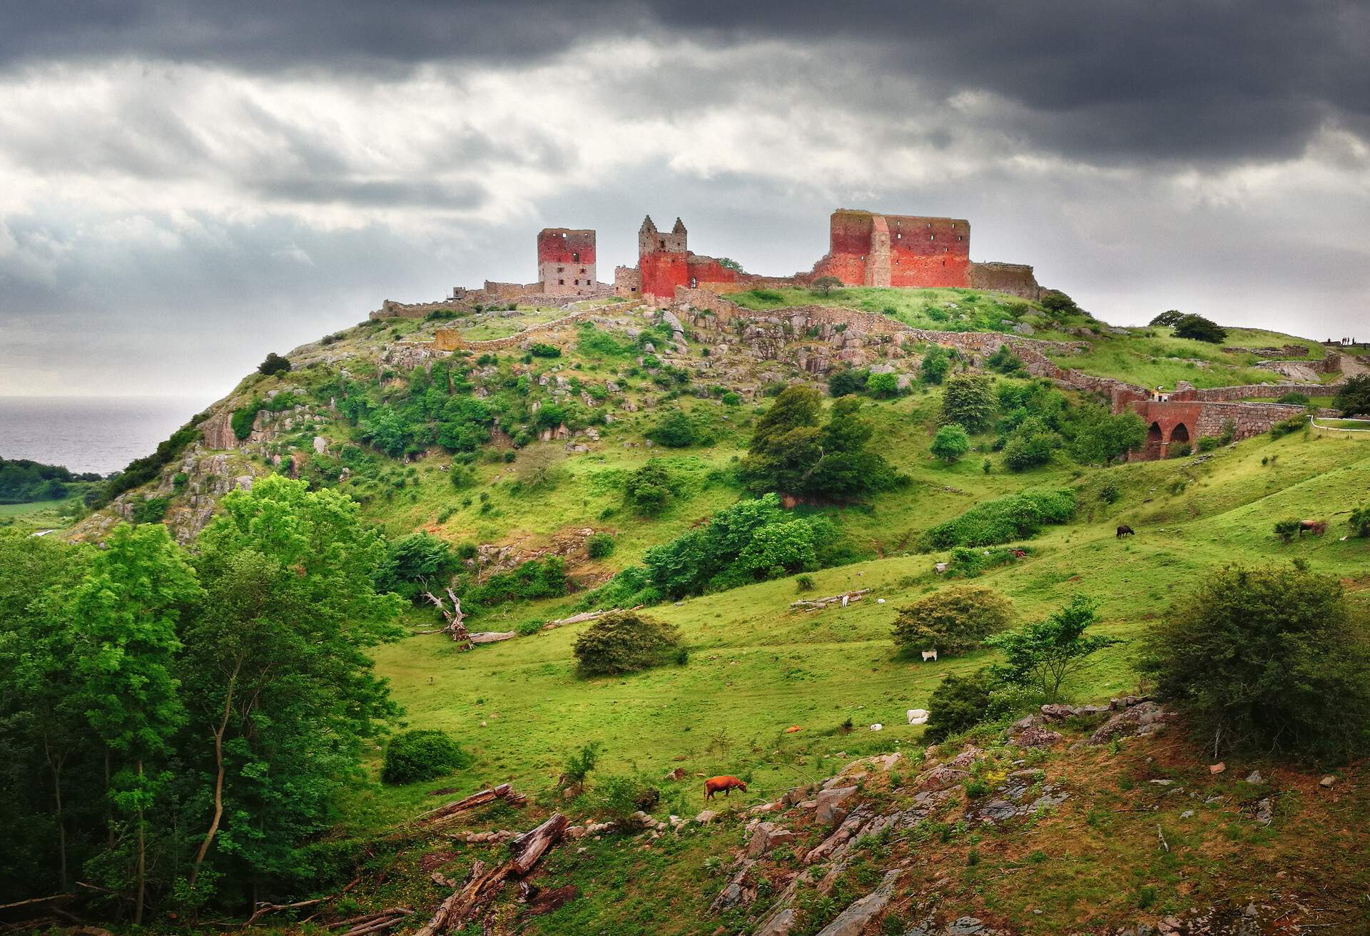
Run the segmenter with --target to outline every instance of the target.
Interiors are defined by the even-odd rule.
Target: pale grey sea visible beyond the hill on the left
[[[0,396],[0,458],[110,474],[214,400],[185,396]]]

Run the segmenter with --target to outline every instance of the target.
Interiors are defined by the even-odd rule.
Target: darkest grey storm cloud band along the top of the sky
[[[710,45],[780,38],[830,47],[834,67],[858,59],[870,86],[855,106],[897,108],[907,78],[941,99],[988,92],[1001,100],[1000,132],[1085,160],[1286,158],[1326,125],[1370,136],[1370,7],[1360,0],[10,5],[0,32],[8,64],[133,56],[382,74],[425,62],[516,64],[626,36]],[[886,78],[895,81],[882,99]],[[688,82],[658,99],[663,114],[703,103]]]

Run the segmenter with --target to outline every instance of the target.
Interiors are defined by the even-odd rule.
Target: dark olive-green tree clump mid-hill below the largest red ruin
[[[871,451],[874,428],[855,396],[833,400],[819,425],[822,396],[807,386],[781,391],[752,433],[743,478],[755,493],[775,491],[815,500],[852,500],[888,488],[895,473]]]

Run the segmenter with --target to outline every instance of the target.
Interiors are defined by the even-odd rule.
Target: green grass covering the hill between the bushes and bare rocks
[[[1062,315],[973,291],[790,292],[732,299],[759,315],[792,304],[830,303],[918,328],[1032,330],[1049,340],[1085,340],[1088,351],[1054,354],[1054,360],[1151,386],[1173,386],[1180,380],[1197,386],[1284,381],[1256,369],[1254,351],[1223,348],[1302,344],[1307,360],[1323,355],[1314,341],[1269,332],[1232,329],[1219,348],[1175,338],[1167,329],[1114,329],[1078,310]],[[164,497],[169,522],[189,524],[215,491],[237,478],[288,471],[351,493],[392,539],[425,530],[464,550],[463,576],[473,582],[529,559],[564,558],[571,581],[567,595],[482,606],[467,621],[473,630],[522,628],[526,635],[471,652],[459,652],[444,635],[415,635],[374,651],[377,672],[389,678],[395,699],[406,709],[406,724],[449,732],[474,763],[425,784],[363,787],[340,804],[337,844],[362,855],[359,880],[369,881],[369,889],[348,898],[348,907],[358,913],[408,902],[426,918],[427,909],[448,892],[430,883],[434,867],[462,880],[475,857],[489,857],[486,846],[443,837],[403,846],[374,837],[447,802],[433,799],[440,788],[455,798],[511,783],[533,796],[530,811],[496,807],[466,828],[526,829],[552,809],[566,810],[575,821],[601,815],[601,785],[626,776],[659,788],[655,815],[693,817],[701,809],[699,776],[726,773],[748,783],[745,793],[726,802],[736,814],[830,777],[856,758],[903,752],[906,766],[873,774],[862,796],[885,811],[910,809],[915,789],[903,781],[943,755],[923,754],[925,729],[907,725],[906,710],[926,709],[943,678],[974,672],[996,655],[975,651],[926,663],[908,659],[896,654],[891,624],[900,607],[944,585],[934,565],[948,555],[921,551],[922,534],[996,497],[1025,489],[1069,489],[1075,496],[1071,522],[1047,526],[1021,544],[1025,558],[974,580],[1006,595],[1019,621],[1041,617],[1077,593],[1099,600],[1104,618],[1099,630],[1121,643],[1067,682],[1066,695],[1074,702],[1134,692],[1136,639],[1215,566],[1302,559],[1343,578],[1356,600],[1370,595],[1362,591],[1370,584],[1370,540],[1343,539],[1341,517],[1370,502],[1370,433],[1307,429],[1197,458],[1108,467],[1081,465],[1056,451],[1047,465],[1011,471],[995,451],[996,433],[988,430],[973,437],[971,452],[947,465],[929,449],[941,388],[917,380],[915,359],[877,356],[873,363],[889,363],[912,378],[908,393],[867,400],[862,411],[874,426],[878,451],[906,481],[859,503],[797,508],[801,515],[825,514],[834,521],[848,561],[807,573],[812,582],[807,591],[800,591],[796,576],[788,576],[658,604],[648,613],[680,628],[688,662],[582,678],[571,644],[585,625],[533,628],[585,608],[589,589],[641,562],[651,547],[699,528],[747,496],[736,467],[769,395],[788,384],[821,385],[823,375],[795,366],[784,354],[756,355],[745,343],[710,344],[686,333],[684,348],[671,347],[670,329],[636,307],[600,303],[580,311],[600,318],[538,338],[552,341],[556,356],[537,356],[518,345],[489,351],[471,345],[436,359],[418,354],[412,343],[438,328],[456,328],[466,341],[503,338],[545,328],[567,310],[501,308],[460,319],[371,321],[299,348],[289,355],[293,370],[251,375],[211,407],[201,423],[226,423],[230,414],[245,412],[238,425],[251,434],[244,433],[232,449],[211,451],[199,443],[182,449],[153,481],[123,495],[114,507],[114,513],[127,513],[148,497]],[[804,341],[795,336],[792,345],[801,348]],[[1023,382],[1021,377],[995,380]],[[1086,403],[1075,393],[1067,396],[1071,406]],[[452,399],[499,410],[499,430],[492,433],[488,422],[478,422],[485,433],[478,444],[440,444],[433,433],[444,425],[451,432],[459,422],[443,415]],[[569,437],[538,441],[538,434],[558,428],[544,419],[553,407]],[[674,449],[649,444],[648,433],[669,411],[688,412],[704,441]],[[425,415],[432,412],[440,415]],[[644,517],[625,502],[623,484],[651,459],[669,471],[671,497],[663,513]],[[1329,534],[1289,544],[1273,536],[1277,519],[1306,517],[1329,519]],[[111,511],[86,518],[75,532],[96,539],[110,518]],[[1118,524],[1137,534],[1115,537]],[[590,559],[586,532],[611,534],[612,554]],[[848,607],[790,607],[799,598],[852,589],[870,591]],[[434,619],[432,608],[418,604],[407,618],[414,630],[433,628]],[[871,729],[877,724],[881,730]],[[1338,781],[1338,799],[1319,798],[1317,777],[1278,772],[1277,820],[1254,828],[1243,810],[1255,791],[1238,785],[1236,765],[1223,777],[1210,776],[1204,754],[1182,730],[1173,728],[1122,747],[1062,744],[1049,754],[1019,756],[1021,751],[1003,747],[1006,728],[1007,722],[995,724],[975,735],[989,750],[977,770],[992,787],[1022,767],[1018,761],[1041,767],[1071,791],[1059,810],[1008,832],[981,830],[958,811],[974,806],[969,793],[941,803],[921,830],[863,844],[829,892],[801,888],[808,903],[795,936],[817,932],[878,884],[880,872],[889,867],[906,870],[886,913],[897,921],[882,931],[891,933],[949,909],[988,914],[1011,926],[1010,932],[1096,932],[1092,928],[1106,924],[1155,922],[1188,909],[1240,903],[1248,894],[1269,900],[1275,888],[1317,899],[1318,906],[1336,904],[1343,914],[1338,920],[1365,913],[1347,896],[1365,892],[1363,858],[1370,857],[1358,830],[1370,810],[1366,798],[1352,792],[1363,784],[1356,770]],[[1067,741],[1088,728],[1073,725]],[[603,747],[589,789],[562,799],[558,777],[566,759],[588,743]],[[925,756],[927,765],[919,766]],[[367,767],[378,776],[379,751]],[[666,780],[677,769],[685,778]],[[1158,778],[1201,791],[1191,817],[1181,821],[1182,810],[1162,802],[1163,788],[1148,784]],[[1210,802],[1210,796],[1226,799]],[[741,822],[741,817],[725,818],[660,839],[606,833],[577,847],[567,843],[548,859],[538,880],[548,887],[574,885],[580,898],[544,917],[521,917],[506,902],[507,928],[499,932],[752,932],[767,904],[760,898],[747,910],[722,917],[707,913],[727,880],[719,869],[730,867],[733,852],[747,840]],[[792,824],[808,847],[822,840],[807,817],[796,815]],[[1169,843],[1163,850],[1158,835]],[[795,858],[801,850],[789,851],[789,857],[767,859],[771,863],[758,872],[769,881],[764,896],[774,896],[803,870]],[[1332,861],[1345,851],[1362,858],[1356,867]],[[443,859],[425,862],[425,854]],[[1277,880],[1275,870],[1295,866],[1293,877]]]

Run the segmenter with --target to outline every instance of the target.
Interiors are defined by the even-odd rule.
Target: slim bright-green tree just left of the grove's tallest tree
[[[160,524],[119,525],[62,608],[75,635],[85,715],[108,751],[108,796],[132,822],[136,924],[147,900],[147,814],[167,783],[160,766],[185,721],[174,676],[177,625],[200,596],[195,571]],[[112,851],[112,850],[111,850]],[[112,857],[112,855],[111,855]]]

